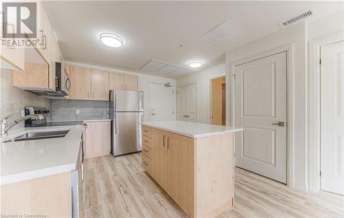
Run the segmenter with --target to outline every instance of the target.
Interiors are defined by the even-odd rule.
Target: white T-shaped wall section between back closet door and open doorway
[[[208,69],[204,69],[190,76],[177,79],[177,87],[198,84],[197,92],[197,122],[211,122],[211,79],[219,76],[225,76],[226,64],[217,65]]]

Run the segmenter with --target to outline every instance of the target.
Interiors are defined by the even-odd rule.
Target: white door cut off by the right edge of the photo
[[[321,47],[321,189],[344,195],[344,42]]]

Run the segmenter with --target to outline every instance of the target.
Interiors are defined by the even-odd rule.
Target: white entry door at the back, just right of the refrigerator
[[[173,87],[149,83],[149,121],[174,120]]]

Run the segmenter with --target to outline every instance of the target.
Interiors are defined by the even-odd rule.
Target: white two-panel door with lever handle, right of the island
[[[235,164],[287,182],[286,52],[235,66]],[[279,122],[280,125],[278,124]]]

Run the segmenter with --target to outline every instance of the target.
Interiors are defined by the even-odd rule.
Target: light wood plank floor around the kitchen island
[[[85,217],[186,217],[140,165],[141,154],[85,160]],[[344,197],[302,193],[235,170],[235,206],[219,217],[344,217]]]

